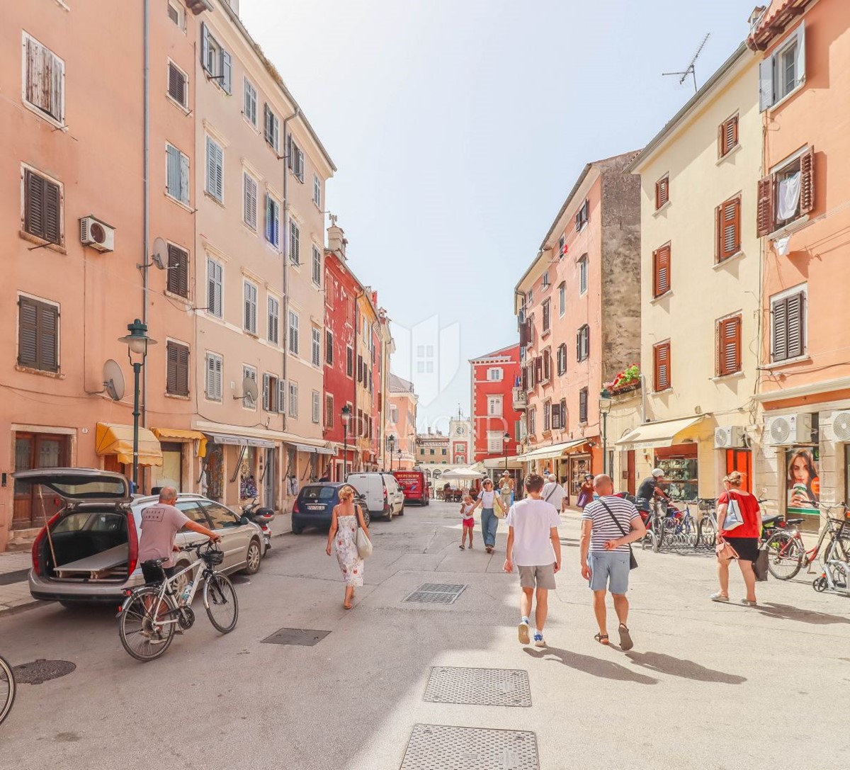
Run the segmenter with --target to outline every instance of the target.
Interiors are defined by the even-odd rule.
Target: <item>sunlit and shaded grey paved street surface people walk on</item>
[[[49,605],[0,618],[0,652],[13,665],[77,665],[20,686],[0,727],[3,766],[389,770],[401,766],[414,725],[427,723],[532,731],[541,768],[836,767],[847,599],[817,594],[809,580],[771,580],[759,586],[760,609],[718,605],[706,598],[711,557],[638,552],[635,648],[603,648],[592,639],[570,515],[552,647],[522,648],[517,577],[501,573],[504,525],[493,557],[479,537],[462,552],[455,508],[408,508],[372,524],[367,585],[349,612],[325,536],[277,538],[261,572],[237,578],[234,632],[220,636],[196,603],[195,627],[148,664],[123,651],[110,609]],[[428,582],[467,589],[447,607],[403,603]],[[734,575],[732,596],[741,588]],[[281,627],[331,633],[313,647],[260,643]],[[531,705],[425,702],[433,666],[527,671]],[[428,767],[484,767],[472,754]]]

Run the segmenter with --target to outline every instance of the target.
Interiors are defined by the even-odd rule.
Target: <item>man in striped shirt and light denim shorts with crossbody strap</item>
[[[599,626],[594,637],[600,644],[608,644],[608,625],[605,593],[614,597],[614,610],[620,621],[620,646],[632,649],[632,637],[626,626],[629,614],[629,543],[640,540],[646,527],[638,509],[631,502],[614,494],[610,476],[601,474],[593,479],[599,495],[581,514],[581,575],[590,580],[593,592],[593,612]]]

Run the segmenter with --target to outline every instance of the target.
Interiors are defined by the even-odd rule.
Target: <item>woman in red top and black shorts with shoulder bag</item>
[[[711,594],[713,602],[728,602],[729,600],[729,562],[732,558],[721,557],[721,546],[726,542],[738,554],[738,566],[746,584],[746,598],[741,602],[747,607],[756,606],[756,573],[753,562],[758,557],[758,539],[762,534],[762,514],[757,499],[746,490],[742,490],[740,472],[733,471],[723,478],[723,495],[717,498],[717,525],[720,535],[717,538],[717,580],[720,581],[720,591]],[[729,500],[734,500],[743,524],[734,529],[723,529],[728,512]],[[728,549],[726,549],[728,550]],[[734,557],[733,557],[734,558]]]

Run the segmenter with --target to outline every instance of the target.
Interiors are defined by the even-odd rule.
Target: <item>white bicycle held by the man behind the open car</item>
[[[201,552],[201,548],[206,551]],[[162,582],[141,586],[125,592],[127,598],[118,611],[118,635],[127,653],[136,660],[154,660],[165,653],[171,645],[174,634],[180,626],[190,629],[195,623],[195,613],[190,607],[195,592],[204,583],[203,602],[210,623],[221,633],[226,634],[236,626],[239,618],[239,601],[233,583],[229,578],[212,569],[224,561],[224,552],[213,548],[211,543],[197,543],[184,548],[195,551],[196,559],[185,569],[167,577],[162,574]],[[152,563],[161,567],[165,559],[155,559]],[[180,595],[175,586],[181,575],[191,573],[201,567],[196,580],[187,576],[190,584]]]

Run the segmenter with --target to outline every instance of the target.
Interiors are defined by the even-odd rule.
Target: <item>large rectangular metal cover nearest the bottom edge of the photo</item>
[[[417,724],[400,770],[540,770],[537,739],[523,730]]]

